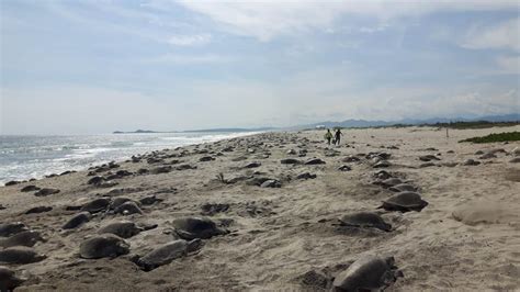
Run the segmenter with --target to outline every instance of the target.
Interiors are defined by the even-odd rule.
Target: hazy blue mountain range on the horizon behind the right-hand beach
[[[315,128],[317,126],[325,127],[373,127],[373,126],[389,126],[389,125],[422,125],[437,123],[453,123],[453,122],[520,122],[519,113],[502,114],[502,115],[487,115],[478,117],[433,117],[433,119],[404,119],[398,121],[366,121],[366,120],[346,120],[342,122],[320,122],[308,125],[298,125],[291,127],[292,130]]]

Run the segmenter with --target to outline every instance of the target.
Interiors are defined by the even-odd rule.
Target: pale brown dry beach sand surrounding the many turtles
[[[520,290],[520,164],[509,162],[513,158],[512,149],[520,143],[457,143],[462,138],[506,131],[520,131],[520,126],[450,131],[450,138],[444,131],[432,127],[349,130],[344,131],[340,147],[327,147],[321,141],[323,132],[269,133],[165,150],[156,157],[173,154],[179,157],[151,165],[146,159],[121,162],[113,172],[152,169],[172,160],[180,160],[172,167],[189,164],[196,169],[133,175],[113,180],[118,184],[112,188],[87,184],[91,177],[86,171],[0,188],[0,203],[5,206],[0,211],[0,223],[23,222],[47,239],[34,247],[47,256],[45,260],[4,266],[29,278],[19,288],[22,291],[319,290],[302,284],[302,276],[323,271],[334,277],[360,256],[375,254],[394,256],[396,266],[404,272],[405,277],[389,291]],[[223,151],[228,146],[234,150]],[[326,156],[332,148],[337,156]],[[497,151],[496,158],[478,159],[481,155],[475,155],[477,150],[487,153],[497,148],[505,153]],[[298,157],[289,155],[290,149],[308,153]],[[381,201],[392,195],[391,191],[372,184],[372,173],[378,169],[370,160],[361,157],[360,162],[341,161],[348,155],[371,151],[391,154],[392,166],[386,170],[412,181],[429,202],[421,212],[377,210],[395,228],[388,233],[335,224],[336,218],[350,212],[376,211]],[[432,161],[436,166],[419,168],[425,162],[418,157],[423,155],[438,155],[440,160]],[[215,160],[199,161],[203,156]],[[244,160],[236,159],[239,157]],[[326,164],[280,162],[283,158],[305,161],[313,157]],[[468,158],[482,164],[461,164]],[[252,161],[261,166],[242,168]],[[339,171],[341,165],[352,170]],[[317,178],[297,180],[296,176],[305,171]],[[219,172],[225,179],[271,177],[282,187],[260,188],[245,181],[226,184],[215,179]],[[60,192],[47,196],[20,192],[29,184],[57,188]],[[79,212],[66,211],[68,205],[81,205],[103,195],[137,200],[150,194],[163,201],[143,206],[143,215],[98,214],[77,229],[61,231]],[[126,239],[131,254],[143,255],[174,239],[169,233],[172,220],[201,215],[204,204],[228,205],[208,217],[231,233],[204,240],[196,255],[149,272],[131,262],[131,255],[98,260],[78,256],[84,238],[94,235],[106,222],[123,217],[138,224],[158,224],[155,229]],[[23,214],[38,205],[53,210]]]

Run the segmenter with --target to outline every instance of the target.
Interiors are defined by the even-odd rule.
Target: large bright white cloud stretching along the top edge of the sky
[[[487,11],[518,9],[516,1],[188,1],[179,0],[186,9],[207,15],[223,30],[238,35],[270,41],[278,35],[309,30],[334,31],[334,22],[341,16],[364,15],[382,23],[399,16],[416,16],[437,11]],[[381,26],[376,26],[381,27]],[[373,32],[374,29],[365,27]]]

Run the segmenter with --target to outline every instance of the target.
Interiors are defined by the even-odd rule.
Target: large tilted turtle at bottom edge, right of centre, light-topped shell
[[[378,291],[393,284],[398,277],[404,277],[394,265],[394,257],[361,257],[340,272],[332,285],[337,291]]]

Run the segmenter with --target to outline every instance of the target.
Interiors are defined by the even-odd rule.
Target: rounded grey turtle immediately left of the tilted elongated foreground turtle
[[[113,234],[101,234],[81,243],[79,255],[84,259],[115,258],[129,252],[129,245]]]

